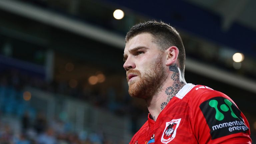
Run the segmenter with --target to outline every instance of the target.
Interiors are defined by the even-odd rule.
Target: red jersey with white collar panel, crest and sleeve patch
[[[252,142],[249,123],[236,104],[227,95],[207,86],[186,84],[156,121],[149,115],[130,144]]]

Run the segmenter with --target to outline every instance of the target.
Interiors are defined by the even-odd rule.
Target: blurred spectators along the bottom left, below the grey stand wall
[[[70,126],[61,120],[47,122],[45,116],[39,113],[31,122],[28,113],[21,120],[8,118],[1,120],[1,144],[112,144],[99,133],[70,132]],[[20,128],[20,129],[19,129]]]

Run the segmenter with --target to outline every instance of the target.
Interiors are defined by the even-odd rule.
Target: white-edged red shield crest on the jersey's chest
[[[163,135],[161,137],[162,143],[167,144],[175,138],[176,131],[179,127],[180,121],[181,121],[181,118],[173,119],[169,122],[166,122],[165,129],[164,129]]]

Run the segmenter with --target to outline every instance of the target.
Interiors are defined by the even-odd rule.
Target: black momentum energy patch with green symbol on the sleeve
[[[224,97],[211,98],[203,102],[200,109],[210,128],[212,139],[239,132],[246,133],[248,130],[241,111]]]

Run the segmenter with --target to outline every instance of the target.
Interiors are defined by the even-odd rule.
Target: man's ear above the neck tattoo
[[[170,66],[174,64],[178,58],[179,50],[176,46],[171,46],[167,50],[165,50],[166,53],[166,65]]]

